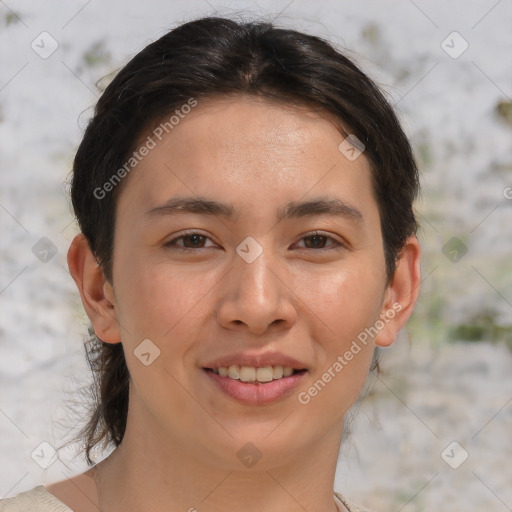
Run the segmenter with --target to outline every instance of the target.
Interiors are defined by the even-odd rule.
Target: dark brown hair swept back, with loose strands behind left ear
[[[417,230],[412,204],[419,189],[411,147],[393,108],[329,42],[268,22],[219,17],[182,24],[146,46],[105,89],[87,126],[74,160],[71,197],[107,279],[112,280],[116,198],[128,177],[101,197],[95,191],[105,190],[149,126],[190,98],[200,102],[228,94],[319,109],[364,143],[390,279],[406,239]],[[130,375],[121,343],[104,343],[91,332],[86,352],[94,403],[80,436],[92,464],[96,445],[118,446],[123,439]]]

